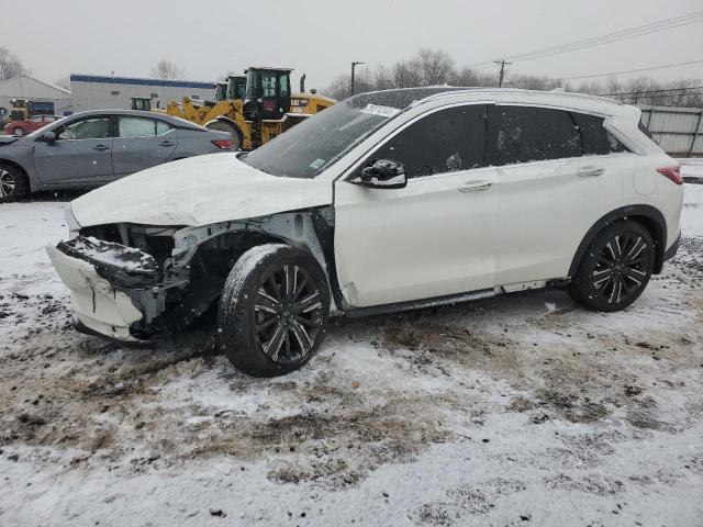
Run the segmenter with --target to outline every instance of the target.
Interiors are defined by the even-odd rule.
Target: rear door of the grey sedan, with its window
[[[178,131],[167,122],[134,115],[116,115],[112,148],[115,179],[171,160]]]

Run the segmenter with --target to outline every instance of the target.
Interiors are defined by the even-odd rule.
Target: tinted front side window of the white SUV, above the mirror
[[[402,162],[409,178],[482,167],[484,128],[483,104],[449,108],[411,124],[372,157]]]

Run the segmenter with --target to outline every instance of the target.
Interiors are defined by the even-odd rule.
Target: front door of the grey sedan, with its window
[[[112,181],[109,115],[78,117],[52,128],[56,141],[34,141],[34,162],[44,184],[101,184]]]

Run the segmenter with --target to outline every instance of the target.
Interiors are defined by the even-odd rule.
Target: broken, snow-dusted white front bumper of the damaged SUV
[[[166,289],[155,259],[133,247],[78,236],[47,247],[70,290],[77,327],[123,343],[148,340],[146,328],[165,306]]]

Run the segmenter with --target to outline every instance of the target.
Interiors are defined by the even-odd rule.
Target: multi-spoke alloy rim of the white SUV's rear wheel
[[[592,272],[595,294],[609,304],[618,304],[639,294],[646,285],[651,250],[636,233],[613,236],[600,249]]]

